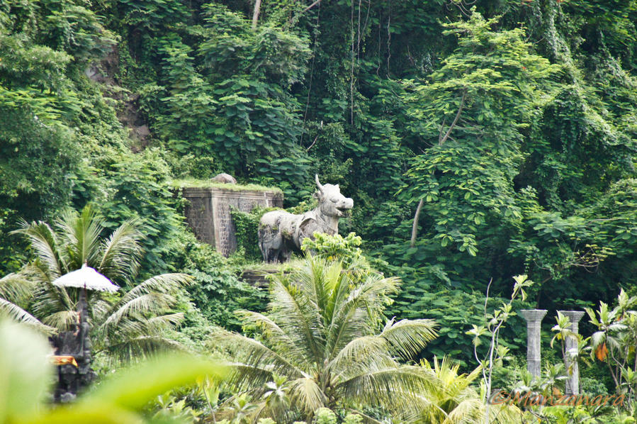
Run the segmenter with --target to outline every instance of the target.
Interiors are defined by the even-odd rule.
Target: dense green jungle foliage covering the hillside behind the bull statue
[[[174,182],[227,172],[300,213],[319,174],[354,199],[340,231],[361,239],[307,248],[400,277],[384,313],[436,319],[425,357],[468,366],[487,285],[495,308],[517,274],[535,284],[516,309],[634,294],[636,0],[259,4],[0,2],[0,277],[43,256],[15,233],[24,221],[90,203],[96,240],[143,233],[135,269],[114,277],[127,290],[193,277],[170,312],[198,346],[210,325],[239,330],[237,309],[264,311],[239,279],[263,211],[233,213],[239,250],[224,258],[186,227]],[[79,264],[63,241],[47,240],[60,272]],[[523,328],[512,317],[502,344],[521,353]]]

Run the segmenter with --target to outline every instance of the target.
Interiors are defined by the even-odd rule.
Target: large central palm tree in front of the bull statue
[[[383,327],[383,310],[388,295],[398,289],[398,279],[374,272],[355,279],[339,262],[318,257],[308,257],[288,277],[274,278],[267,315],[239,312],[254,338],[225,330],[214,337],[230,358],[234,388],[253,399],[264,398],[275,381],[277,393],[286,394],[292,408],[308,418],[321,407],[360,413],[374,406],[417,420],[415,405],[436,379],[399,359],[421,352],[436,336],[436,324],[392,319]],[[260,415],[254,420],[270,416],[286,422],[277,409],[257,408]]]

